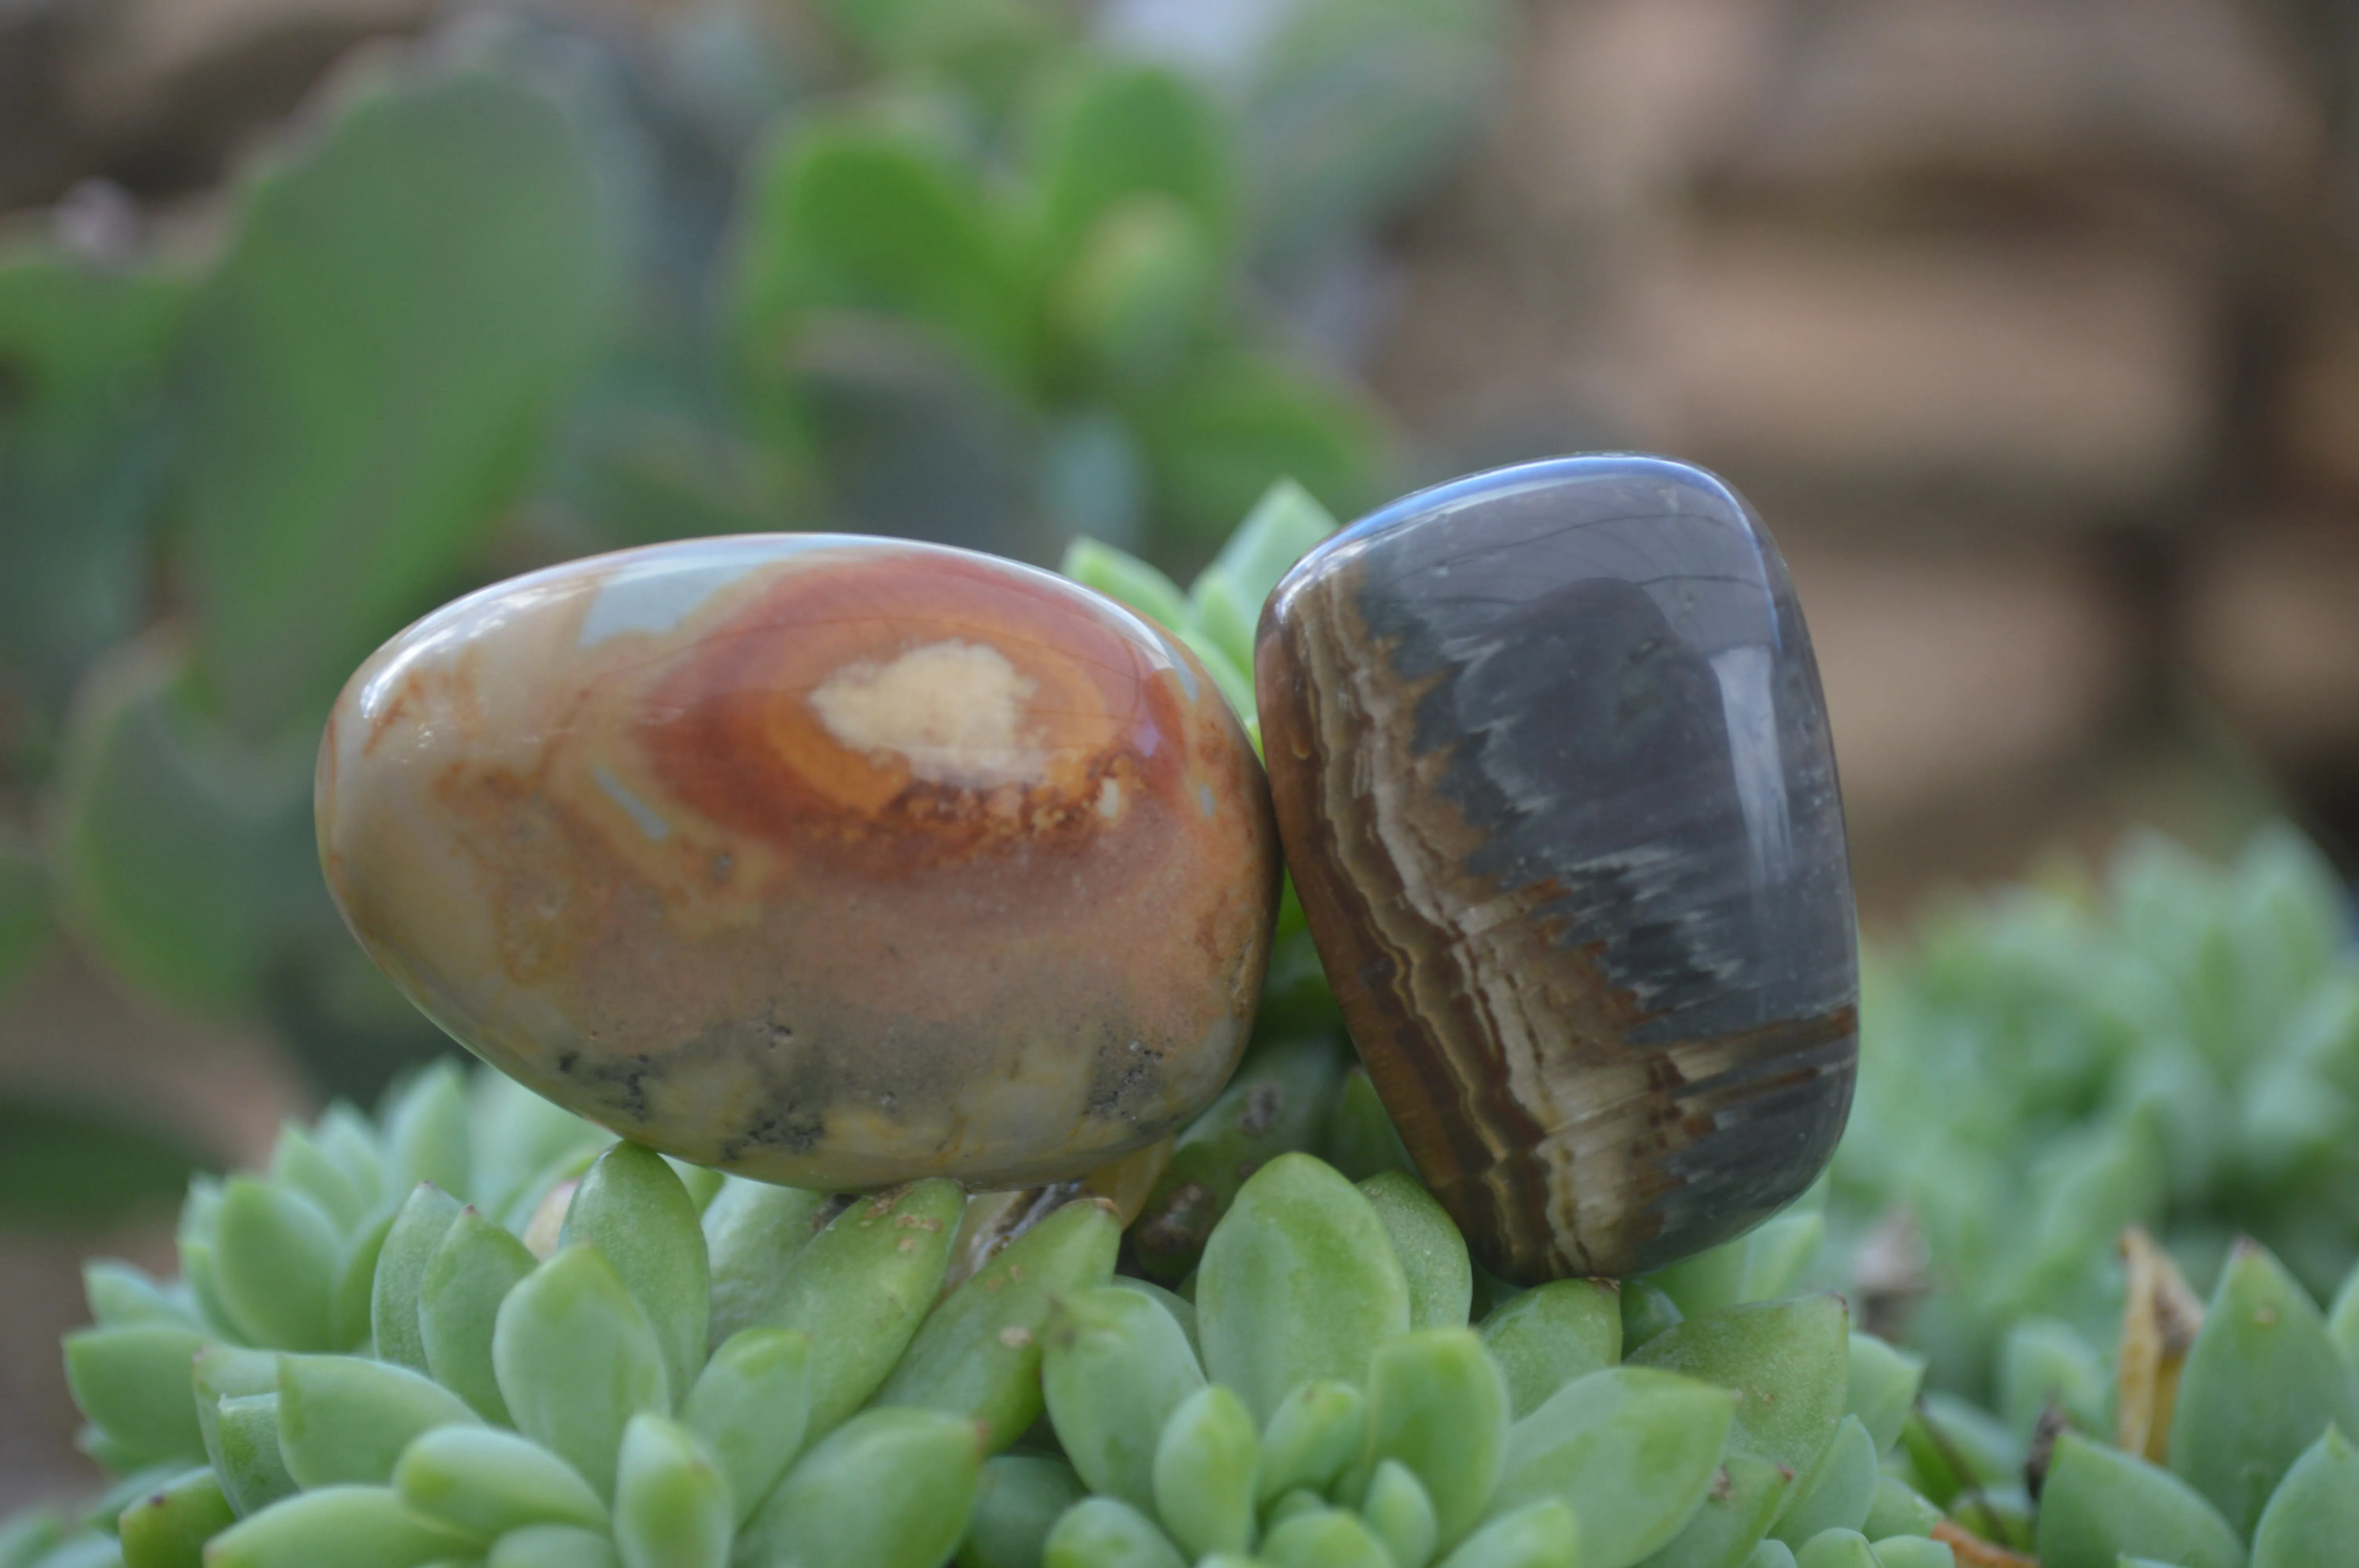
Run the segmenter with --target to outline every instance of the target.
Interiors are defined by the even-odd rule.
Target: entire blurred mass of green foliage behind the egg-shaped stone
[[[326,901],[311,755],[418,613],[748,528],[1194,571],[1276,476],[1392,493],[1276,302],[1467,146],[1493,5],[1314,0],[1217,66],[1054,0],[804,21],[477,9],[342,66],[205,233],[0,243],[0,986],[64,931],[368,1096],[436,1035]],[[90,1106],[0,1127],[12,1212],[179,1181]]]

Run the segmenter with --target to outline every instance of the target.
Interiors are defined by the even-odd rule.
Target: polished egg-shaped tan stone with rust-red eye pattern
[[[1062,578],[753,535],[557,566],[344,689],[344,920],[477,1054],[750,1177],[1076,1177],[1194,1115],[1269,955],[1260,766]]]

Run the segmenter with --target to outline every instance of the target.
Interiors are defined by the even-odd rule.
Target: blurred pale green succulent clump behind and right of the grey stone
[[[2359,948],[2331,868],[2291,828],[2227,868],[2142,837],[2102,887],[1927,922],[1868,964],[1828,1217],[1871,1318],[1977,1398],[2057,1323],[2104,1342],[2133,1224],[2189,1278],[2253,1236],[2328,1294],[2359,1261]]]

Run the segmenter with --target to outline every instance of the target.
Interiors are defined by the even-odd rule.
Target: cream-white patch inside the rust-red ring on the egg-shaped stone
[[[1024,733],[1036,689],[998,648],[953,639],[845,665],[809,703],[847,750],[899,752],[927,783],[988,790],[1047,776],[1047,752]]]

